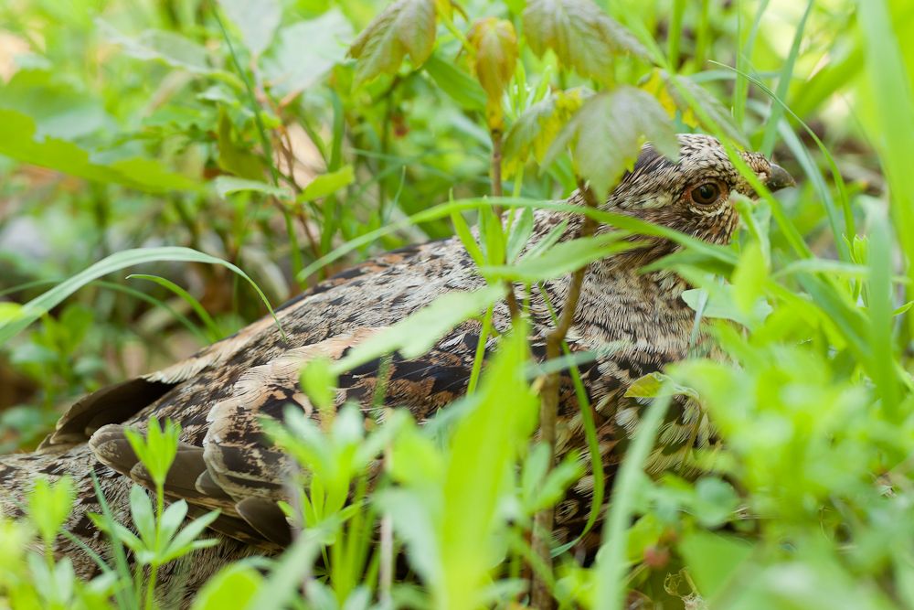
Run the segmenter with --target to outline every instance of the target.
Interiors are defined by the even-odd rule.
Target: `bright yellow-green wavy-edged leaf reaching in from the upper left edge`
[[[75,177],[153,193],[199,189],[196,183],[169,172],[157,161],[133,158],[99,164],[91,160],[89,151],[71,142],[49,137],[44,142],[36,142],[36,131],[35,121],[30,116],[0,109],[0,155]]]

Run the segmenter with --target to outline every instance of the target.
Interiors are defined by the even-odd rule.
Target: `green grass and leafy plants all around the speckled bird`
[[[458,234],[490,287],[432,305],[343,366],[393,349],[418,355],[468,317],[481,317],[487,336],[505,281],[535,290],[620,247],[553,243],[518,261],[529,210],[564,209],[682,243],[660,265],[700,289],[686,301],[746,325],[714,323],[729,363],[695,358],[665,371],[665,383],[697,392],[723,441],[695,455],[706,474],[644,474],[674,387],[644,380],[643,427],[598,494],[611,504],[599,560],[568,547],[537,555],[536,515],[558,504],[579,464],[554,465],[537,444],[518,319],[486,366],[481,339],[472,391],[431,423],[397,412],[366,433],[344,409],[327,434],[294,414],[277,425],[311,474],[295,517],[307,528],[278,557],[229,565],[193,607],[508,608],[527,604],[536,581],[563,609],[615,610],[627,591],[664,608],[914,608],[909,3],[552,0],[451,11],[412,0],[430,7],[431,27],[376,23],[356,60],[346,47],[388,3],[262,0],[262,18],[233,21],[244,4],[0,6],[8,44],[29,50],[0,88],[3,446],[34,448],[59,405],[189,355],[270,303],[409,242]],[[549,21],[558,4],[574,17],[565,37]],[[496,21],[486,27],[517,39],[471,36],[487,16]],[[318,17],[321,34],[339,39],[283,37]],[[631,36],[618,37],[610,17]],[[567,44],[577,38],[588,44]],[[257,40],[265,46],[250,48]],[[290,83],[303,91],[290,94]],[[635,131],[701,130],[731,153],[745,141],[787,166],[798,188],[774,198],[754,184],[760,200],[739,202],[743,228],[728,247],[555,203],[578,181],[604,187],[622,171],[620,151],[641,134],[593,108],[641,95],[627,87],[644,83]],[[611,139],[594,141],[576,116]],[[557,140],[568,145],[550,150]],[[503,141],[512,196],[501,198],[492,154]],[[493,208],[511,210],[511,230],[491,221]],[[129,279],[127,267],[152,281]],[[305,372],[315,404],[338,372]],[[499,408],[506,401],[515,408]],[[594,423],[583,421],[579,454],[596,455]],[[175,430],[153,436],[134,440],[160,472]],[[369,493],[381,456],[398,466]],[[179,503],[151,504],[137,487],[137,534],[103,504],[112,565],[83,583],[48,552],[68,485],[37,483],[28,519],[0,520],[0,602],[158,605],[158,568],[205,544],[196,538],[207,521],[179,528]],[[124,546],[146,572],[130,570]],[[395,569],[399,556],[409,574]]]

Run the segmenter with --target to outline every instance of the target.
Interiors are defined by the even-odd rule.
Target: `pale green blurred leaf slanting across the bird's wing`
[[[479,316],[503,296],[505,287],[501,285],[486,286],[473,293],[444,294],[405,320],[353,348],[345,358],[336,361],[332,371],[334,374],[343,373],[394,350],[407,359],[421,356],[454,326]]]

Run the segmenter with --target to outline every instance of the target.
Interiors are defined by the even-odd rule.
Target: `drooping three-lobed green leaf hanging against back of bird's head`
[[[598,198],[605,198],[638,158],[643,136],[660,154],[678,158],[679,140],[660,103],[645,91],[621,85],[584,102],[549,145],[543,164],[570,144],[577,171],[590,180]]]

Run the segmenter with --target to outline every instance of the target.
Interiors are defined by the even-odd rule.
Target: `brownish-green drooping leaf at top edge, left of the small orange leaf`
[[[381,74],[393,74],[409,53],[420,66],[435,43],[435,0],[396,0],[356,37],[349,56],[358,59],[354,86]]]

